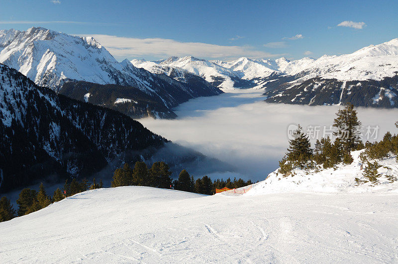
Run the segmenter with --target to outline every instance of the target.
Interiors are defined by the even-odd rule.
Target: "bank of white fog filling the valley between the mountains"
[[[230,175],[261,181],[278,168],[288,146],[289,125],[300,124],[304,130],[319,127],[322,136],[324,126],[332,125],[339,109],[268,104],[261,94],[262,91],[249,89],[195,98],[175,109],[176,120],[145,118],[139,122],[175,143],[235,167],[234,173],[214,172],[210,174],[212,178]],[[379,127],[378,140],[387,131],[397,132],[394,123],[398,120],[398,109],[357,110],[364,135],[366,127]]]

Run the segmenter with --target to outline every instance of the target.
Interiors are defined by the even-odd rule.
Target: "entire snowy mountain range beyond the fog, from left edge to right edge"
[[[182,102],[236,88],[264,89],[269,103],[398,107],[398,39],[317,60],[188,56],[119,63],[92,37],[32,27],[0,30],[0,63],[40,86],[133,118],[174,118]]]

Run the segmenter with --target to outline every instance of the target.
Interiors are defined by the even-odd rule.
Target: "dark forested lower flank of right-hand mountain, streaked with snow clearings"
[[[291,85],[283,83],[266,90],[268,103],[301,105],[345,105],[362,107],[398,107],[398,76],[382,80],[339,81],[311,78]]]

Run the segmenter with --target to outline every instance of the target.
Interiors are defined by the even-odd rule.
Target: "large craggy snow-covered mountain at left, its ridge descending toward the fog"
[[[161,102],[167,111],[190,98],[222,93],[195,78],[181,82],[166,74],[137,68],[127,60],[118,63],[92,37],[71,36],[41,27],[27,31],[0,30],[0,63],[56,92],[71,81],[135,87]],[[167,111],[163,113],[165,116]]]

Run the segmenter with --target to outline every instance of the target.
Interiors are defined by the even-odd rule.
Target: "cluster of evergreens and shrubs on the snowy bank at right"
[[[314,148],[311,148],[308,136],[298,125],[297,130],[293,132],[293,139],[289,140],[286,155],[279,162],[278,173],[287,177],[294,174],[292,171],[296,168],[317,170],[333,168],[340,163],[351,164],[353,162],[351,151],[365,148],[360,157],[362,162],[365,163],[363,175],[367,180],[360,181],[357,179],[356,181],[358,184],[368,181],[378,183],[377,178],[380,175],[377,173],[377,169],[381,165],[377,161],[372,162],[372,160],[397,155],[398,161],[398,136],[387,132],[380,142],[367,141],[364,144],[360,136],[362,123],[358,120],[354,106],[348,104],[344,109],[338,110],[336,116],[332,125],[336,128],[333,132],[336,137],[335,140],[332,142],[329,136],[322,137],[320,140],[316,140]],[[398,128],[398,122],[395,125]],[[387,178],[391,181],[397,180],[395,177],[388,176]]]

